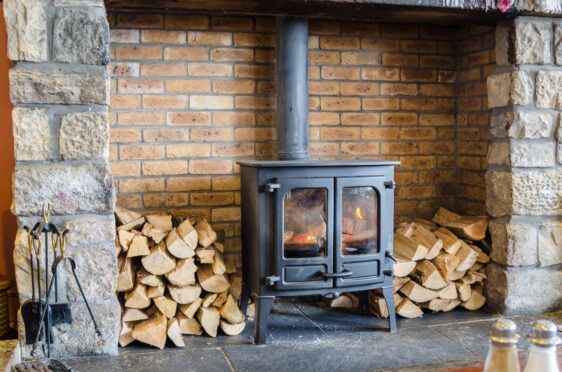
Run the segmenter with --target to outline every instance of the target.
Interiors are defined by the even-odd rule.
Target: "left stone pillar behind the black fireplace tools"
[[[73,321],[54,327],[52,355],[116,354],[120,307],[108,160],[109,25],[103,1],[4,0],[4,14],[8,55],[15,62],[10,71],[16,157],[12,212],[20,228],[33,226],[43,203],[53,204],[52,221],[70,229],[66,253],[76,261],[102,333],[96,335],[65,268],[59,301],[70,303]],[[31,297],[24,235],[20,230],[14,249],[22,303]],[[19,334],[28,356],[21,318]]]

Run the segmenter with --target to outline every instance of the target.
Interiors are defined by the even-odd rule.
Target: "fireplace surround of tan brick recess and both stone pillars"
[[[103,319],[101,339],[77,332],[87,318],[56,330],[59,355],[117,352],[114,198],[207,218],[240,266],[236,161],[276,151],[273,5],[219,15],[106,3],[4,1],[15,62],[13,212],[32,224],[53,202],[54,219],[75,231],[68,250]],[[491,309],[559,308],[561,10],[518,2],[508,20],[462,4],[428,1],[433,8],[412,16],[381,3],[397,23],[351,21],[360,8],[348,3],[339,18],[309,21],[311,158],[399,160],[397,220],[440,206],[489,214]],[[81,306],[75,288],[65,292]]]

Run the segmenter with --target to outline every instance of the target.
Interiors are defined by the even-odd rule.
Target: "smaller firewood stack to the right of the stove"
[[[457,306],[477,310],[485,265],[486,217],[460,216],[441,208],[431,221],[401,223],[394,234],[394,306],[396,313],[416,318],[430,311],[451,311]],[[477,245],[478,244],[478,245]],[[369,310],[388,317],[379,291],[369,293]]]

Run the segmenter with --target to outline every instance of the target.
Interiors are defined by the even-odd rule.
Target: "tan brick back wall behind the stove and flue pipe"
[[[236,251],[236,160],[275,153],[274,19],[110,14],[110,22],[118,204],[205,216]],[[454,208],[456,29],[309,28],[311,157],[400,160],[399,218]],[[467,66],[478,63],[472,52]],[[473,116],[467,128],[478,125]],[[466,155],[482,154],[468,146]]]

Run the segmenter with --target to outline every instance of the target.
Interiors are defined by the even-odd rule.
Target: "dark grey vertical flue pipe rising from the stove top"
[[[277,17],[277,158],[308,159],[308,22]]]

